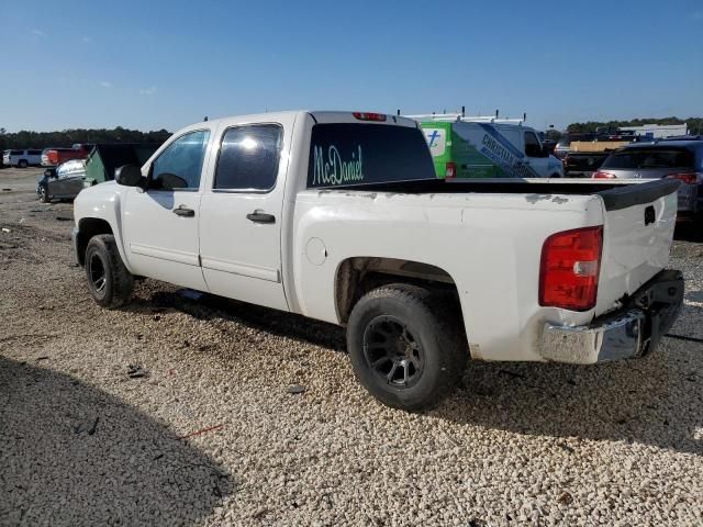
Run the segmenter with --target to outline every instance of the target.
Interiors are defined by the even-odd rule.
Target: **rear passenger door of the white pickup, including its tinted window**
[[[281,269],[281,212],[294,116],[222,124],[203,191],[200,257],[212,293],[289,311]]]

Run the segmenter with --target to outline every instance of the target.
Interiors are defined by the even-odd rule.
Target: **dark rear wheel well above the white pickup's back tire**
[[[457,285],[444,269],[397,258],[357,257],[344,260],[337,269],[335,303],[339,322],[346,324],[361,296],[389,283],[410,283],[442,293],[447,301],[456,302],[456,313],[461,316]]]

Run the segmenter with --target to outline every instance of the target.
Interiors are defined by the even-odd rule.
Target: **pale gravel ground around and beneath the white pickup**
[[[37,175],[0,170],[0,525],[703,524],[701,343],[389,410],[334,326],[152,280],[98,307]],[[674,334],[703,337],[702,257],[677,240]]]

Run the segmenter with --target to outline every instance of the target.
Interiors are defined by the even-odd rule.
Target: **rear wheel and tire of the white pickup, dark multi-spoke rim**
[[[459,383],[468,346],[459,322],[423,288],[390,284],[352,310],[347,348],[357,380],[383,404],[427,410]]]

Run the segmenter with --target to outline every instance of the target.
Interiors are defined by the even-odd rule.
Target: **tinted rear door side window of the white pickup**
[[[278,124],[235,126],[222,137],[215,190],[266,191],[274,188],[282,145]]]

